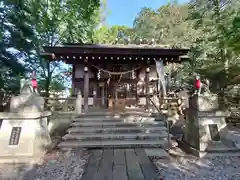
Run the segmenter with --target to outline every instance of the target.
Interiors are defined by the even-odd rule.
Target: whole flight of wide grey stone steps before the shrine
[[[73,119],[58,147],[159,148],[166,138],[164,121],[155,121],[148,113],[89,113]]]

